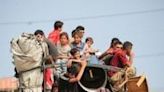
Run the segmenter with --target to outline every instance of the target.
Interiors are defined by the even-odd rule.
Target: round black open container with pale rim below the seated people
[[[106,86],[107,74],[103,68],[87,66],[78,84],[87,92],[95,92]]]

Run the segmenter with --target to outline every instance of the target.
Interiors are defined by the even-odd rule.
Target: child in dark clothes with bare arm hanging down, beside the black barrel
[[[68,69],[66,77],[68,81],[60,79],[59,81],[59,92],[80,92],[78,87],[78,81],[80,81],[85,67],[87,65],[86,60],[82,60],[80,57],[80,51],[76,48],[70,51],[72,59],[68,61]]]

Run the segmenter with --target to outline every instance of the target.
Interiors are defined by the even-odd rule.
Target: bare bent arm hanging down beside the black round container
[[[77,74],[77,76],[75,78],[71,78],[69,80],[70,83],[77,82],[77,81],[79,81],[81,79],[81,77],[82,77],[82,75],[84,73],[85,67],[87,65],[87,62],[86,61],[81,61],[80,64],[81,64],[81,68],[80,68],[79,73]]]

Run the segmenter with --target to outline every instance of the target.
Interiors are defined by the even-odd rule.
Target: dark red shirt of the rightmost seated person
[[[119,67],[119,68],[124,68],[124,66],[128,65],[129,62],[130,61],[126,57],[126,53],[123,50],[119,50],[113,56],[112,61],[110,62],[110,65]],[[115,73],[114,71],[108,72],[109,76],[112,76],[114,73]]]

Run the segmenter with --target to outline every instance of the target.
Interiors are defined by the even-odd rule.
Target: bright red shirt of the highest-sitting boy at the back
[[[53,30],[49,35],[48,39],[52,41],[55,45],[60,41],[60,31]]]

